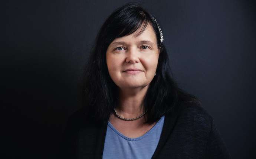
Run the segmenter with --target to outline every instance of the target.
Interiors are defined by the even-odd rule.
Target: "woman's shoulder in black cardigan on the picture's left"
[[[62,135],[61,153],[64,158],[76,158],[77,154],[91,155],[102,141],[106,127],[92,120],[88,111],[75,111],[66,123]],[[68,156],[68,157],[67,157]]]

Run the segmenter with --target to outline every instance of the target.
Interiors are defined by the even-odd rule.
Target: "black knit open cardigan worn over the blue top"
[[[107,122],[96,123],[83,111],[70,117],[62,143],[62,158],[101,159]],[[193,103],[175,106],[165,114],[163,131],[153,159],[230,159],[213,118]]]

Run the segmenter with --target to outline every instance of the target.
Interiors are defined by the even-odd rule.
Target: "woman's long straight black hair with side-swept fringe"
[[[83,79],[82,105],[85,111],[98,121],[108,121],[109,115],[118,100],[118,87],[109,76],[106,65],[106,50],[115,38],[123,37],[137,31],[140,35],[148,24],[152,25],[160,49],[156,75],[150,83],[144,98],[146,123],[158,121],[164,114],[170,112],[178,102],[200,101],[178,88],[171,78],[168,54],[160,42],[160,32],[156,22],[138,3],[127,3],[117,8],[100,28],[95,39]],[[137,36],[138,36],[137,35]]]

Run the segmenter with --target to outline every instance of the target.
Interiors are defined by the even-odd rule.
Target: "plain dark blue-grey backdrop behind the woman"
[[[2,156],[55,158],[88,51],[127,1],[8,1],[1,49]],[[232,158],[255,153],[254,1],[140,1],[163,30],[174,78],[201,99]]]

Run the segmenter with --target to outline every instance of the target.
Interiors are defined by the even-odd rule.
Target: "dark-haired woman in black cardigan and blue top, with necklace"
[[[179,89],[157,20],[137,3],[102,25],[72,115],[66,158],[230,158],[200,101]]]

